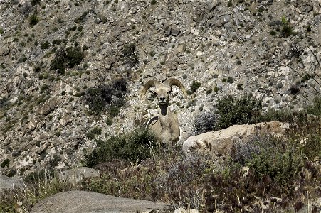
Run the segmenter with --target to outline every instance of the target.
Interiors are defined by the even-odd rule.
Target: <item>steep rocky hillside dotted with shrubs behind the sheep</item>
[[[81,165],[105,138],[142,126],[150,79],[176,77],[182,138],[228,94],[301,109],[320,94],[320,1],[0,1],[1,173]],[[319,64],[318,64],[319,62]]]

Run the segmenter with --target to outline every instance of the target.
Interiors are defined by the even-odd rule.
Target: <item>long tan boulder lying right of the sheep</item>
[[[210,151],[216,155],[226,155],[230,153],[233,143],[237,143],[238,141],[241,141],[241,139],[264,132],[282,135],[291,127],[291,124],[283,124],[279,121],[233,125],[219,131],[211,131],[197,136],[191,136],[184,141],[183,150],[186,153]]]

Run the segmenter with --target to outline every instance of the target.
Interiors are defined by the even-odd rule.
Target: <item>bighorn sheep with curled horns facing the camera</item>
[[[154,95],[157,97],[159,105],[159,114],[150,119],[147,128],[150,128],[155,135],[164,142],[175,143],[179,140],[179,121],[177,115],[169,109],[169,95],[172,93],[172,86],[177,86],[187,97],[187,92],[183,84],[175,79],[169,78],[165,82],[149,80],[141,92],[141,98],[144,97],[150,87],[154,87]]]

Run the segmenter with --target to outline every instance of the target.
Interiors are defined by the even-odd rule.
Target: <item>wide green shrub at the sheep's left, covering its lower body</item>
[[[97,140],[97,148],[93,153],[86,155],[86,165],[95,167],[99,163],[113,159],[139,162],[150,157],[150,148],[157,144],[154,134],[147,130],[135,130],[132,133],[112,136],[102,141]]]

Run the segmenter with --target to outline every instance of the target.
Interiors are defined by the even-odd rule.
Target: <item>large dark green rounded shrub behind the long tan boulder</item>
[[[252,124],[256,121],[256,114],[261,111],[262,102],[257,101],[251,95],[244,95],[235,99],[229,95],[219,99],[216,104],[219,121],[214,129],[224,129],[234,124]]]

